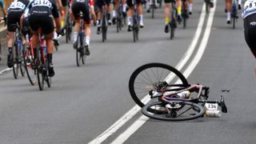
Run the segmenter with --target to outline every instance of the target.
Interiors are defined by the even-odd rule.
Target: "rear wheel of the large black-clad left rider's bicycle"
[[[42,55],[42,47],[37,48],[37,58],[36,58],[36,70],[37,70],[37,75],[38,75],[38,86],[39,90],[44,89],[44,82],[45,82],[45,71],[44,71],[44,62],[43,62],[43,55]]]

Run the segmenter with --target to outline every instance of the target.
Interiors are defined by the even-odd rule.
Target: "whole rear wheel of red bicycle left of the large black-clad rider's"
[[[30,48],[25,47],[25,50],[23,50],[23,59],[27,78],[29,79],[30,84],[34,86],[37,82],[37,70],[34,66],[34,56],[32,56]]]

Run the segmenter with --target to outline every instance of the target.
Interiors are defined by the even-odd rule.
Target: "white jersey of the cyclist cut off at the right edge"
[[[242,18],[246,18],[250,14],[256,13],[256,0],[247,0],[244,3],[244,9],[242,11]]]

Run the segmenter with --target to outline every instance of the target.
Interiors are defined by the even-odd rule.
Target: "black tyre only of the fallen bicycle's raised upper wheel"
[[[140,73],[142,73],[143,70],[147,70],[147,69],[154,68],[154,67],[170,70],[170,72],[173,72],[177,76],[177,78],[179,78],[182,81],[182,84],[184,86],[188,85],[188,82],[187,82],[186,78],[183,76],[183,74],[181,72],[179,72],[177,69],[175,69],[173,66],[169,66],[169,65],[166,65],[163,63],[158,63],[158,62],[147,63],[145,65],[139,66],[136,70],[134,70],[133,74],[131,74],[130,80],[129,80],[130,96],[131,96],[131,98],[134,99],[134,102],[136,104],[138,104],[138,106],[143,107],[143,106],[145,106],[145,104],[140,100],[140,98],[138,98],[138,94],[136,94],[136,92],[134,90],[134,82],[135,82],[136,78],[138,77],[138,75]]]

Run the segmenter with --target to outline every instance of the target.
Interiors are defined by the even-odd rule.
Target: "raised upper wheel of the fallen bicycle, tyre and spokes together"
[[[160,71],[161,75],[159,75]],[[184,86],[188,85],[188,82],[183,74],[176,70],[173,66],[156,62],[139,66],[130,76],[129,91],[131,98],[134,99],[134,102],[138,104],[138,106],[145,106],[150,98],[148,95],[149,91],[155,90],[155,86],[159,82],[166,82],[165,78],[170,76],[170,74],[173,74],[173,78],[170,79],[169,83],[180,80],[181,83],[179,84]]]

